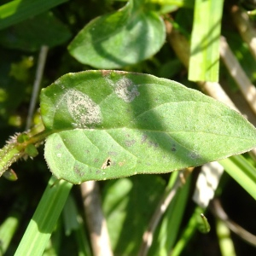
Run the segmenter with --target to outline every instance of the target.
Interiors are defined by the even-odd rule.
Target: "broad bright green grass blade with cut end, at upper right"
[[[196,0],[190,47],[189,80],[218,81],[223,0]]]

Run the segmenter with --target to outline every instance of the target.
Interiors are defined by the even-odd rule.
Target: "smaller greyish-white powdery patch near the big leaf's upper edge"
[[[115,84],[114,91],[116,95],[125,102],[132,102],[140,95],[137,85],[133,84],[131,79],[122,78]]]

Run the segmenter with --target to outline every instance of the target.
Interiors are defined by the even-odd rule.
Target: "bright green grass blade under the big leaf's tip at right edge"
[[[220,160],[219,163],[256,200],[256,168],[242,155],[235,155],[228,159]]]

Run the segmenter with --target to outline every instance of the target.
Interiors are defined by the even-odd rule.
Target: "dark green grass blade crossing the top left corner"
[[[0,29],[43,13],[67,0],[15,0],[0,6]]]

